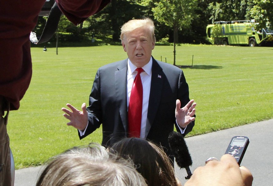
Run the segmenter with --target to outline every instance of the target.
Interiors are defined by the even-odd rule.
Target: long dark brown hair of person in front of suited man
[[[109,147],[109,152],[132,159],[149,186],[182,185],[175,176],[169,157],[150,141],[125,138]]]

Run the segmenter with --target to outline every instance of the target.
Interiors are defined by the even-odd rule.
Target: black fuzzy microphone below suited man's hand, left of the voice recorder
[[[190,152],[187,144],[184,140],[182,134],[178,132],[171,132],[169,134],[169,145],[172,153],[174,154],[175,161],[180,168],[185,168],[188,176],[185,179],[190,179],[192,173],[190,171],[190,166],[192,165],[192,160],[190,157]]]

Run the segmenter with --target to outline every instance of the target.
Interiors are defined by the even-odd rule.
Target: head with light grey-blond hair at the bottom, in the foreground
[[[132,161],[109,153],[99,144],[75,147],[53,157],[36,186],[145,186]]]

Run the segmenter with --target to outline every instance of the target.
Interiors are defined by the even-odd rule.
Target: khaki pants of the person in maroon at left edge
[[[7,133],[8,112],[4,116],[3,105],[3,99],[0,96],[0,186],[10,186],[10,148]]]

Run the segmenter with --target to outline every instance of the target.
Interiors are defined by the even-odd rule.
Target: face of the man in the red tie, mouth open
[[[125,34],[122,46],[130,61],[137,67],[146,65],[154,49],[152,33],[145,27],[140,27]]]

